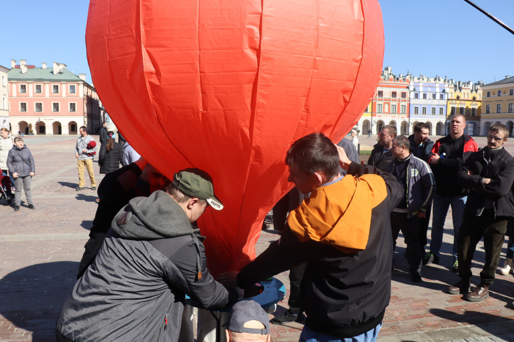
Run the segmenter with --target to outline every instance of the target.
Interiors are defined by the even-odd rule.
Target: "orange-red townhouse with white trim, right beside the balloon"
[[[373,134],[378,134],[385,125],[394,125],[398,135],[410,134],[410,78],[409,74],[405,77],[393,74],[391,67],[384,68],[368,110],[359,120],[358,127],[362,134],[367,134],[370,129]]]

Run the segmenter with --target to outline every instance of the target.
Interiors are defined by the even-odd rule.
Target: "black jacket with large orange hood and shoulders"
[[[380,324],[391,296],[389,214],[403,196],[396,178],[352,162],[289,214],[288,227],[237,276],[242,288],[307,262],[301,293],[306,326],[341,338]]]

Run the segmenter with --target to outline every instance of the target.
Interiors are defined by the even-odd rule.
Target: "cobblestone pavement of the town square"
[[[95,139],[98,141],[98,137]],[[0,203],[0,340],[53,341],[56,318],[75,284],[78,262],[96,212],[96,192],[90,189],[87,179],[85,191],[75,191],[75,138],[24,140],[36,164],[32,181],[36,210],[27,208],[24,195],[19,212]],[[361,143],[362,140],[372,145],[376,136],[364,137]],[[483,145],[479,140],[479,146]],[[100,182],[103,175],[98,170],[95,162]],[[451,219],[445,227],[450,225]],[[441,262],[423,267],[421,283],[410,282],[407,261],[402,256],[405,244],[401,236],[398,238],[391,303],[379,341],[513,341],[514,279],[511,275],[497,275],[490,297],[483,302],[471,303],[444,293],[448,284],[458,280],[451,271],[452,231],[448,229],[445,233]],[[273,230],[263,231],[256,245],[258,253],[278,238]],[[479,281],[484,262],[483,245],[479,246],[473,263],[474,284]],[[504,252],[505,248],[506,244]],[[502,253],[502,261],[504,256]],[[288,289],[287,272],[278,278]],[[286,299],[270,318],[287,309]],[[300,323],[272,326],[271,335],[274,342],[297,341],[302,328]]]

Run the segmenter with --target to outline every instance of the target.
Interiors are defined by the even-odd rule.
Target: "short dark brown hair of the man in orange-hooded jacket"
[[[306,175],[322,172],[329,179],[339,173],[339,152],[323,133],[311,133],[295,141],[286,154],[286,165]]]

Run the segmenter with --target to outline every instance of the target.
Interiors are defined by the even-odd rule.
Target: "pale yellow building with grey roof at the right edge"
[[[499,122],[507,126],[512,137],[514,127],[514,76],[482,86],[481,135]]]

